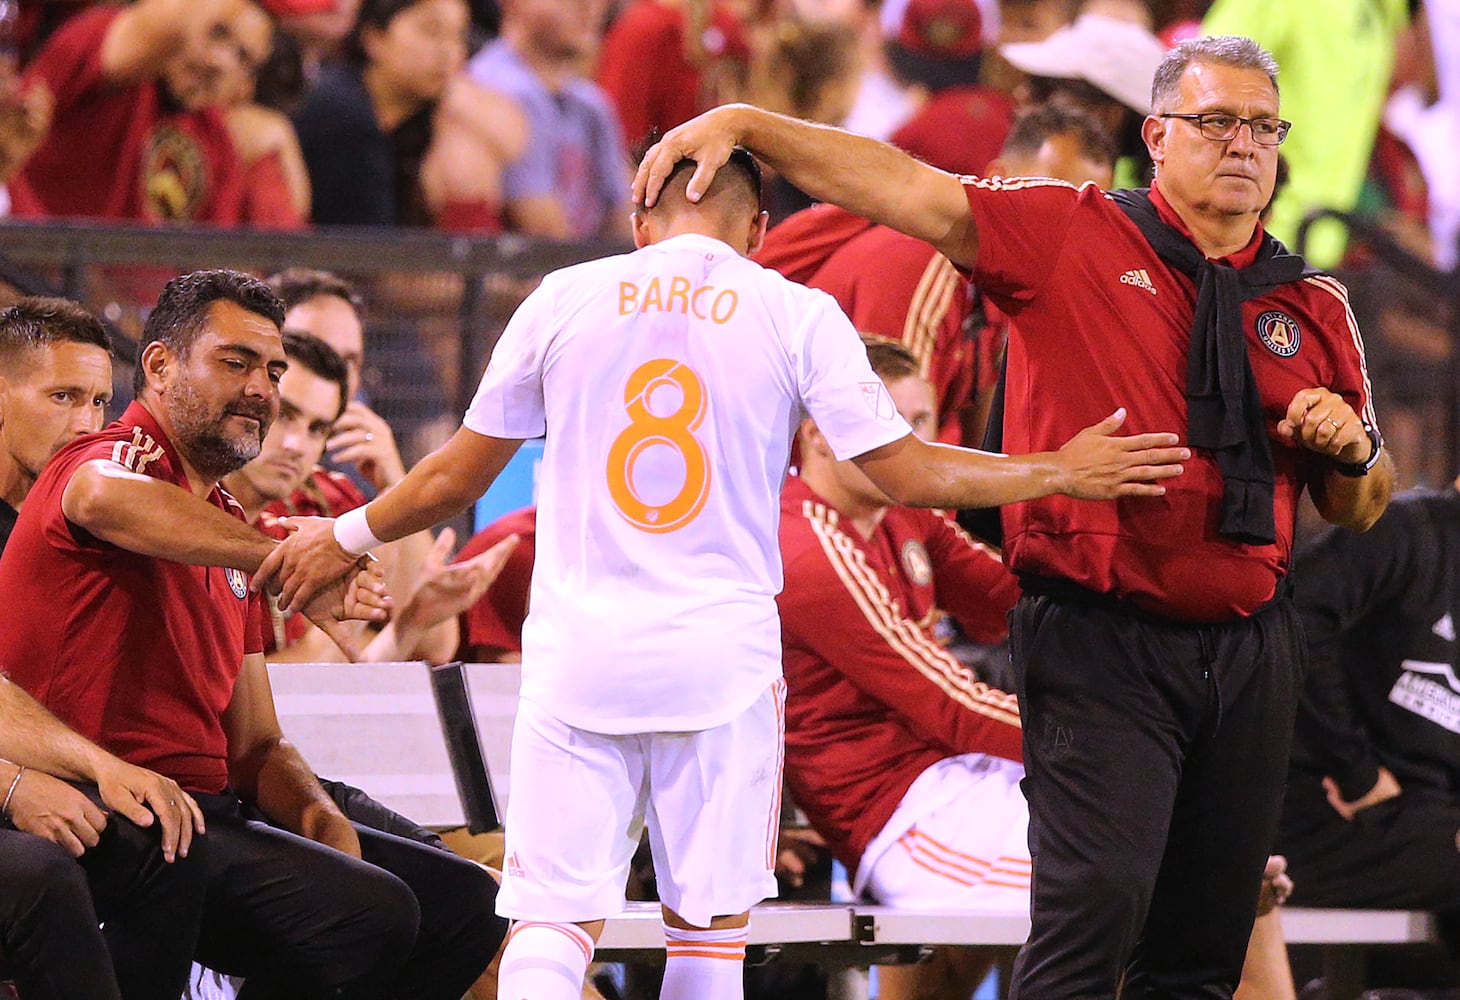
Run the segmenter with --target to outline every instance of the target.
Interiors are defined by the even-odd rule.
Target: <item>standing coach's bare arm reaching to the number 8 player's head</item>
[[[653,206],[685,158],[696,164],[688,193],[698,200],[733,146],[745,146],[818,201],[930,242],[955,264],[974,266],[978,232],[958,177],[888,143],[746,104],[723,105],[669,130],[644,156],[634,200]]]

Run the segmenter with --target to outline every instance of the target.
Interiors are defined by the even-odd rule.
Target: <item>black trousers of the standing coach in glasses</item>
[[[1022,1000],[1231,997],[1278,834],[1305,650],[1288,601],[1191,626],[1029,596],[1010,615],[1032,930]]]

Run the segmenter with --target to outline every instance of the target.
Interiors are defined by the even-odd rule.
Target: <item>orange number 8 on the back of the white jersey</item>
[[[648,409],[654,390],[675,385],[680,391],[679,407],[658,416]],[[634,527],[661,534],[685,527],[710,498],[710,463],[705,448],[695,438],[695,429],[705,419],[705,384],[683,362],[656,358],[644,362],[629,375],[623,387],[623,409],[629,425],[609,448],[609,495]],[[634,489],[634,466],[651,445],[667,445],[685,460],[685,483],[664,504],[647,504]]]

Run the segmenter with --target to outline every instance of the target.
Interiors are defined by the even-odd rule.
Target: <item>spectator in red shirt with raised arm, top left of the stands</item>
[[[139,0],[67,20],[25,72],[55,111],[12,184],[15,213],[238,223],[242,169],[219,105],[229,74],[269,55],[250,6]]]

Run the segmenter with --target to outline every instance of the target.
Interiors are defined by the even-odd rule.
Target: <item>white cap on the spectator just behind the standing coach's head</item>
[[[1080,15],[1040,42],[1000,45],[999,53],[1029,76],[1085,80],[1127,108],[1150,111],[1150,79],[1167,54],[1142,25],[1105,15]]]

